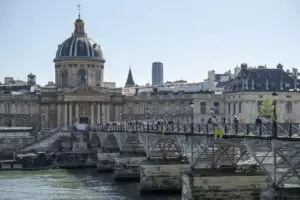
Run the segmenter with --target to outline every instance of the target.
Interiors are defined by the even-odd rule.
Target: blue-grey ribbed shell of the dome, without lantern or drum
[[[92,39],[82,36],[72,36],[58,46],[56,59],[66,57],[92,57],[103,59],[100,46]]]

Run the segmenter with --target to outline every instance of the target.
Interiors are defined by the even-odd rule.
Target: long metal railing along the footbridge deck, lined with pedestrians
[[[231,124],[121,124],[121,125],[98,125],[90,127],[92,131],[112,132],[145,132],[163,134],[212,134],[212,135],[239,135],[261,137],[299,137],[300,124],[296,123],[231,123]]]

